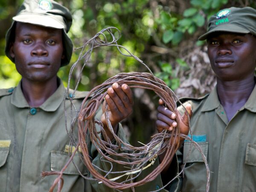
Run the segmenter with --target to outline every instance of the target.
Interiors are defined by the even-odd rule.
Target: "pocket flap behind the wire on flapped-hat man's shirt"
[[[51,151],[51,170],[61,171],[61,169],[66,165],[69,159],[70,156],[68,153],[62,151]],[[75,154],[75,156],[73,157],[73,161],[76,163],[79,171],[83,175],[87,175],[86,167],[81,161],[78,154]],[[67,169],[63,173],[69,175],[80,175],[73,162],[70,162],[70,164],[67,166]]]

